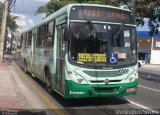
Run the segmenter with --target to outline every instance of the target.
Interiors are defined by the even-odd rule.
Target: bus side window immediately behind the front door
[[[46,40],[45,40],[45,47],[46,48],[52,48],[53,47],[54,28],[55,28],[54,21],[51,21],[47,24],[47,36],[46,36]]]

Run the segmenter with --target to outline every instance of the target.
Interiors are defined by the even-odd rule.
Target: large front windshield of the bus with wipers
[[[122,25],[100,23],[92,23],[90,27],[86,22],[72,22],[70,29],[72,37],[69,54],[75,63],[122,66],[137,61],[136,27],[124,25],[122,28]],[[110,54],[117,55],[117,63],[110,63]]]

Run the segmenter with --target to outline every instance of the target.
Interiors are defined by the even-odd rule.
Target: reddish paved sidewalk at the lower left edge
[[[0,62],[0,114],[3,110],[28,109],[7,62]],[[3,114],[3,113],[2,113]]]

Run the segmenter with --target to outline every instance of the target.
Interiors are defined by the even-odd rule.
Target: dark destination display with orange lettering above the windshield
[[[96,6],[74,6],[71,8],[70,19],[135,24],[131,12]]]

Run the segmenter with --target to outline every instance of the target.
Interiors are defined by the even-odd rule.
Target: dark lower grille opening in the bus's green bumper
[[[98,93],[113,93],[118,90],[118,87],[111,87],[111,88],[96,87],[96,88],[94,88],[94,90]]]

